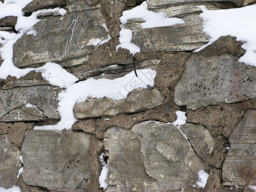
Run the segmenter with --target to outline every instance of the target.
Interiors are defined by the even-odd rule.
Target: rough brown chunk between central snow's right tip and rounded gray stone
[[[157,65],[156,77],[154,79],[155,85],[159,90],[170,88],[173,90],[184,71],[186,61],[190,53],[181,52],[177,54],[170,54],[161,59]]]

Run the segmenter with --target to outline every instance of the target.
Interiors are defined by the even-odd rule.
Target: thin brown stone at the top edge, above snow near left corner
[[[63,7],[66,5],[66,0],[33,0],[27,6],[22,8],[22,12],[36,12],[38,10],[44,10],[49,8]]]

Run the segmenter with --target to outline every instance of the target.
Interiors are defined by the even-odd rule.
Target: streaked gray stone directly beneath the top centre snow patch
[[[209,42],[209,36],[203,32],[203,20],[198,15],[186,15],[182,19],[184,24],[150,29],[143,29],[141,21],[132,20],[125,28],[132,30],[132,42],[141,52],[194,51]]]

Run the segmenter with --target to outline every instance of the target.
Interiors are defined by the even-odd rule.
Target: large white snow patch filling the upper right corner
[[[199,17],[204,20],[204,31],[211,36],[209,44],[220,36],[236,36],[237,41],[244,42],[242,47],[246,50],[239,62],[256,67],[256,4],[228,10],[207,10],[205,6],[198,7],[203,11]],[[204,49],[207,45],[196,51]]]

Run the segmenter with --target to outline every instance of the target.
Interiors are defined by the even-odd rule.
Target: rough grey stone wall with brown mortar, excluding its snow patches
[[[185,22],[145,29],[140,19],[128,20],[124,28],[141,49],[134,57],[116,45],[122,13],[142,1],[29,3],[25,15],[55,7],[67,13],[38,15],[37,35],[23,35],[13,45],[16,67],[51,61],[79,83],[124,77],[133,72],[135,60],[137,70],[152,68],[156,77],[154,87],[133,90],[126,99],[77,102],[73,113],[79,121],[62,131],[33,128],[60,121],[58,95],[65,88],[49,83],[40,71],[0,79],[0,187],[103,191],[103,152],[109,184],[104,191],[253,191],[248,186],[256,186],[256,68],[239,63],[243,43],[232,36],[193,51],[209,42],[195,6],[217,10],[255,2],[147,0],[148,10]],[[17,17],[5,17],[0,30],[17,33],[16,22]],[[95,46],[97,38],[106,42]],[[132,83],[136,79],[126,84]],[[186,112],[186,124],[172,124],[177,111]],[[200,170],[209,173],[205,188],[196,185]]]

